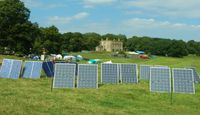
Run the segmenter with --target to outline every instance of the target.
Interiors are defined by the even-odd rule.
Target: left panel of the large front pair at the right
[[[150,68],[150,91],[151,92],[171,92],[171,72],[170,68],[151,67]]]

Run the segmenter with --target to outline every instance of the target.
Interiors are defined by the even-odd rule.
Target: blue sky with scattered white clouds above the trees
[[[22,0],[30,20],[61,33],[200,41],[200,0]]]

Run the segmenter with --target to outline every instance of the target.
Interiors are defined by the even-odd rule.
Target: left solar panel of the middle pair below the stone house
[[[101,82],[102,83],[119,83],[118,64],[101,64]]]

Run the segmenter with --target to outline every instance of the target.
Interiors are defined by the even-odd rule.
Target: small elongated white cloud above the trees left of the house
[[[48,19],[49,24],[67,24],[70,23],[73,20],[81,20],[89,16],[87,12],[80,12],[78,14],[75,14],[74,16],[69,17],[59,17],[59,16],[53,16]]]

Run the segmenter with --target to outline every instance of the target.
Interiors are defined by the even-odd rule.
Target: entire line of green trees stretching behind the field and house
[[[119,34],[60,33],[55,26],[40,27],[29,21],[30,10],[20,0],[0,1],[0,53],[5,50],[15,54],[58,54],[62,51],[78,52],[95,50],[102,39],[120,39],[124,49],[142,50],[148,54],[183,57],[188,54],[200,55],[200,42],[194,40],[172,40],[162,38],[137,37]]]

